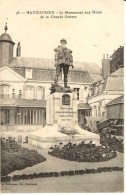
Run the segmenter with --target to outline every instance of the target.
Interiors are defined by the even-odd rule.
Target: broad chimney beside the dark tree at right
[[[102,59],[102,77],[105,78],[110,74],[110,59],[105,58],[105,54],[103,54],[103,59]]]

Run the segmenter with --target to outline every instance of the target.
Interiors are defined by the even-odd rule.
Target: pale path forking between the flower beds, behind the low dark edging
[[[9,175],[21,175],[21,174],[32,174],[34,172],[48,172],[48,171],[65,171],[65,170],[78,170],[78,169],[86,169],[86,168],[98,168],[98,167],[114,167],[119,166],[123,167],[123,161],[124,161],[124,154],[117,153],[117,157],[114,159],[111,159],[109,161],[105,162],[74,162],[74,161],[68,161],[59,159],[56,157],[52,157],[48,154],[47,149],[39,149],[35,146],[24,144],[24,147],[27,147],[31,150],[37,150],[38,153],[46,157],[46,161],[39,163],[37,165],[34,165],[32,167],[27,167],[23,170],[17,170]]]

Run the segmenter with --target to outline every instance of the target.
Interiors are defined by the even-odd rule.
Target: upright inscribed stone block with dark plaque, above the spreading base
[[[47,97],[46,124],[77,123],[77,100],[74,93],[53,93]]]

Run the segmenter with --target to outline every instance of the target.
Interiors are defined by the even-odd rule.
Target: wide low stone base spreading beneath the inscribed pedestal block
[[[28,143],[35,145],[38,148],[50,148],[51,146],[57,145],[59,142],[67,143],[78,143],[84,141],[86,144],[90,141],[96,146],[100,145],[100,136],[98,134],[81,129],[76,125],[76,129],[79,134],[66,135],[59,132],[59,126],[46,125],[43,129],[32,132],[28,135]]]

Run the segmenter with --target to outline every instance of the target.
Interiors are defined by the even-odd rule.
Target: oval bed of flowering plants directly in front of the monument
[[[116,157],[116,152],[110,148],[84,142],[79,144],[69,142],[65,145],[60,143],[51,147],[48,153],[57,158],[79,162],[100,162]]]

